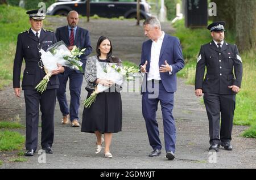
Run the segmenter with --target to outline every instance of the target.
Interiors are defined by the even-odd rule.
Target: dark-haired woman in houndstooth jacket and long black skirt
[[[96,134],[96,154],[100,153],[105,141],[104,156],[112,158],[110,144],[113,132],[122,130],[122,100],[119,93],[120,88],[117,85],[111,80],[97,78],[96,62],[113,62],[122,65],[122,61],[112,56],[112,43],[106,36],[101,36],[98,39],[96,52],[97,55],[89,57],[86,61],[84,75],[86,82],[88,82],[85,87],[88,91],[86,98],[92,94],[97,84],[111,88],[108,89],[109,91],[99,93],[90,108],[84,108],[81,131]],[[104,138],[102,134],[104,134]]]

